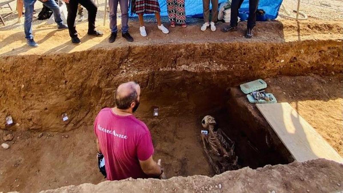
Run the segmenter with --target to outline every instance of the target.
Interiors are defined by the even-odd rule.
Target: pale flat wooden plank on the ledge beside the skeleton
[[[288,103],[256,106],[295,160],[325,158],[343,163],[343,158]]]

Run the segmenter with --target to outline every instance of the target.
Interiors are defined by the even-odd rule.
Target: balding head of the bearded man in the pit
[[[139,103],[140,86],[137,82],[125,82],[119,85],[115,92],[118,109],[129,109],[132,102]]]

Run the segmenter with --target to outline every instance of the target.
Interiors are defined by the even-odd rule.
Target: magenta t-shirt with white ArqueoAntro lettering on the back
[[[107,180],[148,178],[140,167],[154,153],[150,131],[133,115],[120,116],[110,108],[101,110],[94,132],[105,157]]]

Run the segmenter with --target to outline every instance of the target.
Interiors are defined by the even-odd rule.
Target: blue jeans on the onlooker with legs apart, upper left
[[[34,4],[37,0],[24,0],[24,7],[25,7],[25,21],[24,21],[24,31],[25,31],[25,38],[26,39],[33,39],[32,35],[32,18],[33,18],[33,9]],[[40,1],[40,0],[39,0]],[[40,1],[42,2],[42,1]],[[51,9],[54,13],[55,21],[58,26],[63,25],[63,21],[61,18],[60,8],[55,2],[55,0],[47,0],[46,2],[42,2],[46,7]]]

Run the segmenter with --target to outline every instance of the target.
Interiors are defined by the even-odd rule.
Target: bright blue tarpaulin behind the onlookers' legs
[[[219,3],[226,2],[227,0],[218,0]],[[130,1],[131,2],[131,1]],[[167,16],[167,1],[158,0],[159,7],[161,9],[161,16]],[[277,17],[277,12],[280,9],[282,0],[260,0],[258,9],[263,9],[265,11],[265,16],[269,20],[273,20]],[[185,0],[186,15],[191,17],[202,17],[202,0]],[[210,8],[211,9],[211,8]],[[244,0],[240,11],[249,11],[249,1]],[[131,3],[129,8],[130,16],[137,16],[131,13]]]

